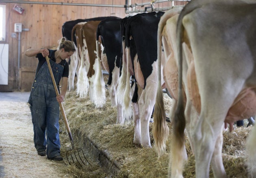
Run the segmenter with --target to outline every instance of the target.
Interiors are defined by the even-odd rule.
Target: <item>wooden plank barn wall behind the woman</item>
[[[125,4],[125,0],[30,1],[82,4]],[[150,2],[150,0],[139,0],[139,2],[132,0],[131,4],[136,2]],[[180,3],[182,4],[182,2]],[[127,15],[124,8],[117,7],[18,3],[18,6],[25,9],[24,13],[19,14],[16,11],[13,11],[15,3],[2,4],[6,4],[6,41],[4,41],[4,43],[9,44],[9,78],[8,85],[0,85],[0,92],[14,90],[30,91],[33,79],[35,77],[37,59],[34,57],[29,58],[25,56],[24,52],[28,48],[56,48],[57,41],[62,37],[61,27],[65,21],[101,16],[117,16],[124,18]],[[164,2],[160,4],[160,7],[170,6],[171,2]],[[158,7],[157,4],[155,6]],[[22,23],[23,29],[29,29],[29,31],[22,31],[20,33],[20,69],[18,69],[19,33],[14,32],[15,23]],[[13,36],[13,33],[16,34],[16,37]]]

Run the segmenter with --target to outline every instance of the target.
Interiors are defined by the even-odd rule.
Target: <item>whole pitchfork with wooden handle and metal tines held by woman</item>
[[[51,68],[51,64],[50,64],[49,60],[50,60],[49,57],[46,56],[46,62],[48,64],[48,68],[49,68],[49,71],[50,71],[50,74],[51,74],[51,77],[52,77],[52,83],[53,83],[56,95],[59,96],[59,91],[58,91],[58,88],[57,88],[57,85],[56,85],[56,82],[55,82],[55,79],[54,79],[54,76],[53,76],[53,73],[52,73],[52,68]],[[85,154],[84,154],[83,150],[81,148],[76,148],[75,147],[74,140],[72,138],[71,131],[70,131],[70,128],[69,128],[69,125],[68,125],[68,122],[67,122],[67,117],[66,117],[66,114],[65,114],[65,111],[64,111],[64,107],[63,107],[62,103],[59,103],[59,105],[60,105],[60,108],[61,108],[61,114],[63,116],[63,120],[65,122],[67,133],[68,133],[68,136],[69,136],[69,139],[70,139],[70,142],[71,142],[71,146],[72,146],[72,149],[68,150],[67,153],[66,153],[67,161],[70,165],[73,163],[78,167],[82,167],[82,164],[86,165],[85,162],[83,161],[83,159],[85,159],[86,161],[87,161],[87,159],[85,158]],[[68,153],[70,154],[72,161],[69,160]],[[87,161],[87,165],[88,165],[88,163],[89,163],[89,161]]]

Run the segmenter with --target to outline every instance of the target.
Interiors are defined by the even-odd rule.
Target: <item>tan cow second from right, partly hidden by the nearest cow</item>
[[[162,92],[162,83],[161,81],[161,73],[163,72],[163,78],[165,81],[165,87],[171,93],[172,99],[172,107],[169,113],[169,118],[174,118],[174,111],[177,107],[177,99],[178,99],[178,69],[176,64],[177,59],[177,43],[176,43],[176,24],[178,20],[178,16],[182,7],[176,7],[169,11],[166,11],[165,14],[161,17],[161,20],[158,24],[158,90],[156,97],[156,104],[154,109],[154,123],[153,123],[153,137],[154,137],[154,148],[158,153],[158,157],[160,157],[165,152],[165,142],[168,136],[168,127],[165,121],[165,110],[163,107],[163,92]],[[161,60],[162,54],[162,42],[163,42],[163,51],[165,54],[165,60]],[[188,51],[187,51],[188,52]],[[191,58],[191,53],[187,53],[187,59]],[[163,70],[161,69],[161,67]],[[184,66],[187,69],[187,65]],[[185,75],[186,76],[186,75]],[[183,79],[183,94],[185,94],[184,88],[187,86],[186,79]],[[184,97],[184,104],[187,104],[187,109],[190,109],[188,117],[195,116],[197,113],[195,109],[191,105],[190,101],[187,101],[186,96]],[[189,137],[190,139],[190,137]],[[193,151],[193,150],[192,150]],[[175,157],[176,155],[171,155],[171,157]],[[187,159],[187,153],[185,150],[185,146],[182,148],[182,155],[179,159]],[[182,165],[183,162],[180,162]],[[174,166],[177,166],[178,163],[175,163]],[[169,168],[171,167],[171,161],[169,162]],[[177,173],[182,172],[182,170],[174,168]],[[170,173],[169,173],[170,174]]]

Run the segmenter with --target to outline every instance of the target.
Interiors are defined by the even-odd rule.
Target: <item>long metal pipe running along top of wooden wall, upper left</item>
[[[66,2],[32,2],[32,1],[14,1],[14,0],[0,0],[4,3],[21,3],[21,4],[50,4],[50,5],[69,5],[69,6],[100,6],[100,7],[122,7],[125,5],[112,4],[83,4],[83,3],[66,3]]]

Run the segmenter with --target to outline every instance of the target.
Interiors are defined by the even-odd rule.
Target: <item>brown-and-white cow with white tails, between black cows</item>
[[[101,63],[96,60],[95,54],[96,30],[99,23],[100,21],[80,22],[72,30],[76,36],[80,57],[76,92],[80,97],[85,97],[89,91],[90,99],[96,107],[102,107],[106,101]],[[98,87],[95,86],[97,80],[100,81]]]

